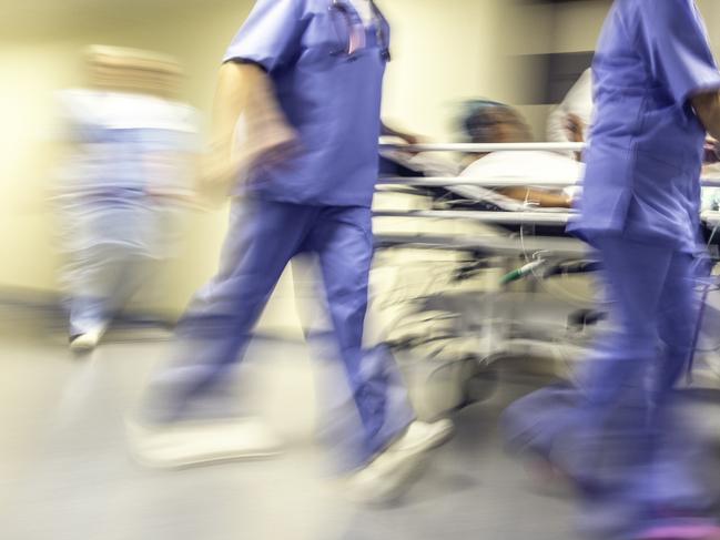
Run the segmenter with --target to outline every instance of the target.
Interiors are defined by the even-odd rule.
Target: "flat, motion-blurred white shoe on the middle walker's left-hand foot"
[[[131,454],[145,467],[183,468],[281,452],[280,439],[254,418],[212,422],[178,422],[148,428],[128,422]]]

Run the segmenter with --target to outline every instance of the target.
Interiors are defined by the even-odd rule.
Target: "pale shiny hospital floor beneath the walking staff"
[[[8,334],[8,333],[6,333]],[[114,333],[74,358],[61,336],[0,345],[0,538],[3,540],[564,540],[572,502],[533,489],[503,454],[496,421],[539,384],[511,368],[494,398],[456,415],[454,440],[392,508],[358,507],[327,475],[315,441],[310,354],[258,340],[243,389],[282,432],[286,454],[183,471],[136,466],[124,418],[163,333]]]

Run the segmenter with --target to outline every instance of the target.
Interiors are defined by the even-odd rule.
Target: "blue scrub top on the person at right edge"
[[[720,88],[692,0],[616,0],[592,63],[596,118],[568,230],[693,252],[706,130],[689,99]]]

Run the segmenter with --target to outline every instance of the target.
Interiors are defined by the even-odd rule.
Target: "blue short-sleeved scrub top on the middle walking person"
[[[302,153],[263,166],[244,187],[272,201],[369,206],[378,174],[381,96],[389,27],[367,28],[352,58],[349,28],[331,0],[258,0],[224,60],[251,61],[270,74]],[[353,21],[361,18],[344,2]]]

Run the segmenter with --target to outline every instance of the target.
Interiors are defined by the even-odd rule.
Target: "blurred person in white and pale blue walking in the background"
[[[85,68],[89,84],[59,96],[71,150],[54,189],[79,351],[172,255],[197,154],[197,115],[176,101],[173,59],[91,47]]]

